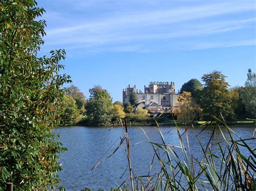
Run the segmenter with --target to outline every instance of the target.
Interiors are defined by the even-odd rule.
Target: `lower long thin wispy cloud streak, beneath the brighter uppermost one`
[[[70,49],[75,48],[83,48],[83,47],[91,47],[97,45],[103,45],[107,43],[127,43],[131,41],[142,41],[142,40],[154,40],[154,39],[169,39],[169,38],[177,38],[177,37],[186,37],[186,36],[200,36],[205,34],[215,34],[221,32],[228,32],[232,30],[238,30],[242,27],[245,27],[248,23],[255,22],[256,19],[246,19],[246,20],[232,20],[225,22],[215,22],[215,23],[207,23],[207,24],[199,24],[199,25],[186,25],[177,27],[176,30],[172,30],[172,32],[163,31],[153,32],[153,31],[145,31],[144,33],[129,33],[126,31],[111,31],[106,33],[90,33],[86,31],[82,31],[82,34],[76,35],[74,34],[66,34],[62,33],[59,36],[62,36],[62,41],[51,41],[50,45],[62,45],[62,44],[71,44]],[[81,31],[79,31],[81,32]],[[76,45],[72,45],[76,44]],[[79,44],[79,45],[78,45]],[[81,45],[82,44],[82,45]]]

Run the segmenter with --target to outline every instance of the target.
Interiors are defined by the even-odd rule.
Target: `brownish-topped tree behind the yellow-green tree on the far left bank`
[[[86,103],[85,95],[79,90],[78,87],[71,85],[66,88],[66,94],[70,95],[76,100],[77,108],[83,113]]]

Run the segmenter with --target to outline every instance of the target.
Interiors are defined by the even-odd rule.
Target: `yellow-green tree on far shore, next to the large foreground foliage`
[[[64,95],[60,104],[61,120],[63,124],[77,123],[80,120],[76,100],[70,95]]]

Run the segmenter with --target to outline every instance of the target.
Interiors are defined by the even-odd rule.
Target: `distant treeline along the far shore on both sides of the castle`
[[[179,109],[173,111],[170,119],[180,121],[210,121],[212,115],[224,117],[227,121],[255,118],[256,86],[255,73],[248,69],[247,80],[243,87],[233,87],[225,81],[225,75],[213,71],[204,74],[201,80],[191,79],[183,84],[178,96]],[[130,102],[112,102],[109,92],[100,86],[89,90],[90,97],[76,87],[66,88],[61,104],[62,124],[113,125],[120,124],[120,119],[129,119],[134,123],[151,123],[149,111],[136,108],[138,97],[131,94]],[[158,118],[166,122],[166,115]]]

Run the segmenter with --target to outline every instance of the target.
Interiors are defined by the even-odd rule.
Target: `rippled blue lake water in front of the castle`
[[[147,126],[143,129],[153,142],[162,143],[156,128]],[[198,158],[201,157],[201,148],[196,136],[202,129],[201,127],[190,128],[187,131],[191,153]],[[232,129],[242,138],[252,138],[255,126]],[[179,128],[179,130],[182,133],[185,128]],[[207,145],[212,130],[213,128],[209,127],[200,134],[203,145]],[[161,131],[166,144],[180,146],[177,132],[173,127],[162,127]],[[128,171],[124,173],[128,163],[123,146],[112,157],[106,159],[120,143],[120,138],[124,136],[122,127],[114,127],[110,130],[107,127],[68,126],[56,128],[55,132],[60,134],[60,142],[69,150],[60,155],[63,171],[59,172],[60,185],[67,190],[117,188],[129,177]],[[153,148],[141,129],[130,127],[128,132],[133,172],[137,175],[147,175],[154,155]],[[221,139],[219,131],[215,132],[215,136]],[[255,147],[252,141],[248,144]],[[220,152],[217,146],[213,146],[213,152],[217,154]],[[99,161],[101,161],[100,164],[92,170]],[[156,172],[160,172],[158,161],[154,162],[151,174]]]

